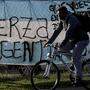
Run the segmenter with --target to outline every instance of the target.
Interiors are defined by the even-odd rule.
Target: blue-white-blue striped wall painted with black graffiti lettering
[[[0,0],[0,64],[35,64],[46,58],[41,41],[47,41],[57,29],[60,20],[56,10],[62,2]],[[55,42],[64,37],[63,30]]]

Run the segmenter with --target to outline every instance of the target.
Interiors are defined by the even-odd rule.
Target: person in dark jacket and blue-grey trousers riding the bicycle
[[[68,29],[66,30],[66,35],[64,40],[62,41],[60,48],[66,52],[73,50],[73,62],[77,69],[76,83],[75,85],[80,84],[82,81],[82,63],[81,56],[85,47],[89,43],[89,36],[87,32],[82,30],[82,25],[70,11],[67,10],[65,6],[62,6],[58,9],[60,24],[57,30],[54,31],[53,35],[49,39],[49,41],[45,44],[51,44],[54,42],[59,33],[63,30],[63,22],[66,22]]]

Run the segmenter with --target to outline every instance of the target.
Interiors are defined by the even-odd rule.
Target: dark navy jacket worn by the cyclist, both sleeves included
[[[81,23],[74,15],[68,14],[65,21],[67,24],[69,24],[69,29],[66,32],[66,36],[62,42],[62,45],[65,45],[69,40],[72,40],[74,44],[78,41],[89,40],[88,34],[82,30]],[[48,43],[53,43],[62,30],[63,26],[62,22],[60,22],[58,29],[55,30]]]

